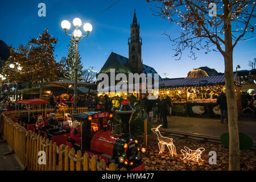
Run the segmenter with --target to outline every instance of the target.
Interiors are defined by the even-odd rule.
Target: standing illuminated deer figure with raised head
[[[159,127],[162,125],[159,125],[158,127],[155,127],[154,129],[151,129],[154,133],[156,133],[156,135],[158,135],[158,146],[159,146],[159,154],[162,154],[162,152],[164,151],[164,145],[167,145],[170,153],[172,156],[174,156],[174,154],[176,155],[176,148],[174,146],[174,143],[172,143],[172,138],[168,138],[168,137],[163,137],[160,134],[160,131],[158,130]]]

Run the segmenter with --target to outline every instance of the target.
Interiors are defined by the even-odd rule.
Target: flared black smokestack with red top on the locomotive
[[[131,107],[130,102],[128,100],[123,100],[120,109],[115,112],[118,113],[123,123],[122,136],[130,136],[130,122],[133,114],[135,113],[135,110],[133,110],[133,107]]]

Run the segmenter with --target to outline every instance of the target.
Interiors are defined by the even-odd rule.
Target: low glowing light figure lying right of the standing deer
[[[192,160],[193,162],[197,162],[199,165],[201,165],[200,162],[203,162],[204,160],[201,159],[201,154],[205,150],[204,148],[197,148],[197,150],[191,150],[188,147],[184,147],[185,150],[180,150],[183,154],[182,160]]]

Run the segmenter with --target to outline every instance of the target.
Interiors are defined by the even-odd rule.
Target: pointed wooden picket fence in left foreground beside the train
[[[11,112],[11,113],[10,113]],[[12,115],[13,111],[7,111],[1,117],[1,130],[3,137],[11,149],[15,152],[20,162],[28,171],[116,171],[115,164],[106,166],[105,160],[99,162],[95,156],[89,158],[86,153],[82,155],[74,148],[69,150],[68,146],[43,138],[42,136],[26,131],[23,126],[6,117]],[[121,168],[120,171],[125,171]]]

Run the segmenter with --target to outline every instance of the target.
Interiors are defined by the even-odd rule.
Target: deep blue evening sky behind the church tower
[[[60,23],[67,19],[79,17],[82,22],[89,20],[93,31],[79,43],[79,52],[84,68],[94,66],[100,71],[110,53],[128,57],[127,38],[130,37],[130,23],[133,21],[136,9],[138,22],[141,24],[140,35],[143,40],[143,63],[154,67],[159,75],[168,73],[168,77],[186,77],[193,68],[208,66],[218,72],[224,72],[224,59],[218,52],[205,54],[204,50],[196,52],[197,59],[188,57],[188,51],[183,53],[181,60],[176,61],[172,43],[167,36],[178,35],[180,28],[176,24],[168,24],[166,20],[154,16],[145,0],[121,0],[104,13],[96,16],[102,10],[112,5],[116,0],[24,0],[0,2],[0,40],[15,48],[26,44],[31,38],[36,38],[48,28],[49,33],[59,39],[55,48],[56,60],[67,55],[69,37],[65,35]],[[38,4],[46,4],[46,17],[38,16]],[[95,18],[93,18],[96,16]],[[74,28],[72,24],[72,28]],[[84,30],[81,31],[85,34]],[[71,30],[69,30],[71,33]],[[240,64],[241,69],[250,69],[248,61],[256,57],[256,36],[240,42],[234,49],[234,69]]]

